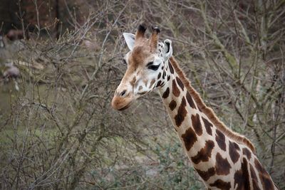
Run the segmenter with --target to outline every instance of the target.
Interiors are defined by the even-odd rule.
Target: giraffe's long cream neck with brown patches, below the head
[[[170,60],[175,61],[173,58]],[[171,62],[172,62],[171,61]],[[218,125],[212,111],[168,61],[159,92],[193,167],[209,189],[276,189],[244,137]],[[189,82],[188,82],[189,83]],[[190,92],[192,91],[192,93]],[[202,105],[201,105],[202,104]],[[218,127],[217,127],[218,126]]]

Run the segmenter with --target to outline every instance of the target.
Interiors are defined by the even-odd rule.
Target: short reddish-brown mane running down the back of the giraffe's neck
[[[256,154],[254,145],[249,141],[249,139],[247,139],[247,137],[244,137],[242,134],[238,134],[237,132],[230,130],[226,125],[224,125],[224,122],[219,120],[219,118],[214,114],[214,111],[204,104],[202,98],[199,96],[199,93],[197,93],[197,91],[192,88],[190,81],[185,77],[185,73],[183,73],[175,58],[172,56],[169,60],[177,75],[182,80],[182,83],[185,85],[187,91],[193,97],[195,102],[197,102],[197,106],[199,106],[199,109],[202,110],[204,115],[207,115],[209,120],[217,127],[217,129],[221,130],[227,137],[246,145],[249,147],[249,149],[252,150],[254,154]]]

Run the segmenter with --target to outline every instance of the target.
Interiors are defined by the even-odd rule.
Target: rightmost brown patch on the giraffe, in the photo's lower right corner
[[[272,179],[267,173],[267,171],[264,169],[264,167],[261,166],[261,164],[259,163],[257,159],[254,159],[254,164],[259,173],[259,179],[261,181],[263,189],[266,189],[266,190],[274,189],[274,184],[272,182]]]

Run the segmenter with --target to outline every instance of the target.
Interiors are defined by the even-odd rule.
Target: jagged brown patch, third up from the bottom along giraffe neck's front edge
[[[213,149],[214,142],[212,140],[207,140],[204,148],[200,149],[195,157],[191,157],[192,162],[194,164],[199,164],[199,162],[208,162]]]

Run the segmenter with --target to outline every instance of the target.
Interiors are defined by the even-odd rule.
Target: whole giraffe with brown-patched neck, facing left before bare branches
[[[150,38],[140,25],[135,34],[123,33],[130,51],[128,68],[112,100],[125,110],[142,95],[158,90],[175,131],[207,189],[277,189],[261,165],[252,142],[233,132],[207,107],[172,56],[172,41]]]

